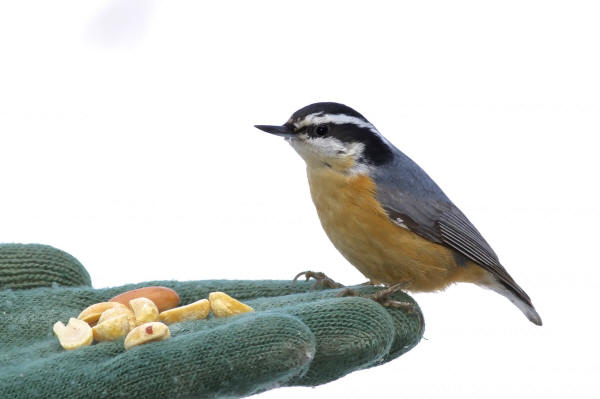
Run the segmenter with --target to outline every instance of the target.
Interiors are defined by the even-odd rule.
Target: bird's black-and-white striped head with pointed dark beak
[[[284,137],[309,168],[366,173],[391,161],[391,144],[361,114],[343,104],[323,102],[294,112],[283,125],[256,128]]]

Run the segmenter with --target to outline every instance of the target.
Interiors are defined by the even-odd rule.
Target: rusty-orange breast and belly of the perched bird
[[[394,224],[375,199],[368,176],[309,170],[309,183],[328,237],[373,282],[434,291],[483,273],[471,263],[458,265],[451,249]]]

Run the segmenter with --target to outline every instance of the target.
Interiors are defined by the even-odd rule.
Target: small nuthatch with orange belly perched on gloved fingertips
[[[371,284],[433,292],[473,283],[542,325],[529,296],[463,212],[359,112],[318,102],[283,125],[255,127],[285,138],[304,159],[325,233]]]

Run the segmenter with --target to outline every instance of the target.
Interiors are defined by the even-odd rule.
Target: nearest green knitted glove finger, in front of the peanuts
[[[180,323],[170,339],[128,351],[123,340],[71,352],[46,340],[47,356],[3,367],[0,396],[240,397],[303,375],[315,354],[315,337],[298,318],[213,320],[200,330],[194,326],[206,323]]]

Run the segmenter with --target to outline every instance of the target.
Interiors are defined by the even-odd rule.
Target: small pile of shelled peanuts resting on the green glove
[[[54,334],[66,350],[113,341],[125,336],[125,349],[171,336],[167,324],[208,317],[227,317],[253,309],[223,292],[211,292],[207,299],[179,306],[179,295],[167,287],[144,287],[127,291],[88,306],[65,326],[57,321]]]

